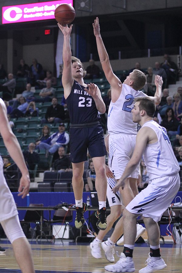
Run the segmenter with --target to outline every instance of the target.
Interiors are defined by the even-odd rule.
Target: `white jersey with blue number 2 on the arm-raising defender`
[[[133,109],[133,100],[136,97],[147,96],[142,91],[136,91],[123,83],[122,91],[118,100],[111,101],[107,117],[108,133],[112,134],[137,134],[136,123],[132,120],[131,110]]]

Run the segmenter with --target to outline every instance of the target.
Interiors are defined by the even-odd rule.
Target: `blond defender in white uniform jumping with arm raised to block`
[[[109,56],[106,48],[103,44],[102,37],[100,35],[99,19],[98,17],[93,23],[94,35],[96,36],[97,50],[99,59],[105,73],[107,81],[111,85],[111,103],[108,111],[108,133],[109,137],[109,153],[110,153],[110,171],[114,174],[115,179],[119,179],[123,174],[123,171],[133,155],[135,143],[136,143],[136,123],[132,121],[131,110],[133,109],[133,99],[138,96],[146,96],[143,92],[137,91],[143,88],[146,83],[146,76],[140,70],[133,70],[126,80],[122,84],[120,79],[113,73],[110,65]],[[162,78],[156,76],[156,93],[153,97],[156,104],[161,100],[161,87]],[[106,169],[107,174],[107,169]],[[129,174],[126,178],[126,186],[120,192],[122,194],[123,205],[126,206],[130,201],[138,194],[136,181],[139,174],[139,164],[133,173]],[[120,225],[120,231],[122,231],[122,219],[116,224],[115,230],[108,240],[112,246],[120,238],[121,234],[117,231],[117,227]],[[145,228],[142,225],[137,224],[137,237],[138,238]],[[99,232],[100,236],[101,232]],[[96,240],[96,239],[95,239]],[[94,240],[94,241],[95,241]],[[117,241],[117,244],[123,244],[123,237]],[[98,246],[99,248],[99,246]],[[113,257],[113,249],[110,251],[110,256]],[[106,251],[105,251],[106,254]]]

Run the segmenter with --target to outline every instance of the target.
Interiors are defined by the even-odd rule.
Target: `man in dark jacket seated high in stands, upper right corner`
[[[178,68],[175,62],[172,62],[168,54],[164,54],[164,62],[160,65],[167,74],[167,83],[175,84],[178,74]]]

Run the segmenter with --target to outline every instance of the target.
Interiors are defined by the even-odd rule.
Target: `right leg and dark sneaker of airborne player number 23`
[[[96,225],[99,230],[105,230],[107,227],[106,221],[107,177],[105,169],[105,156],[93,157],[92,160],[96,172],[95,187],[99,201],[99,209],[96,211],[96,217],[98,218]]]

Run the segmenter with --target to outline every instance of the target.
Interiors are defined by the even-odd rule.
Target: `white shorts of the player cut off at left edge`
[[[3,175],[3,161],[0,156],[0,221],[9,219],[18,214],[15,200],[8,188]]]

